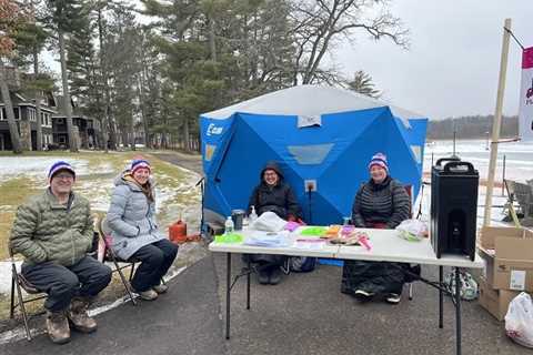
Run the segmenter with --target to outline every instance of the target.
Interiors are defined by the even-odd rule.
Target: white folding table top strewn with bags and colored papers
[[[362,246],[339,246],[326,243],[298,243],[299,239],[309,239],[300,234],[300,229],[289,235],[289,246],[264,247],[252,246],[243,243],[227,244],[212,242],[209,245],[211,252],[243,253],[243,254],[281,254],[298,256],[332,257],[340,260],[366,260],[366,261],[386,261],[402,262],[428,265],[457,266],[483,268],[484,263],[476,254],[472,262],[466,256],[442,255],[436,258],[430,241],[409,242],[398,236],[394,230],[371,230],[356,229],[356,231],[366,232],[370,237],[372,248],[366,251]],[[257,231],[245,229],[238,231],[244,239],[249,239]],[[305,247],[305,246],[309,247]]]

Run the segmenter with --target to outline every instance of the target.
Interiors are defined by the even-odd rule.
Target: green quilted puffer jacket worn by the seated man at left
[[[92,239],[89,201],[71,193],[69,203],[63,205],[47,189],[17,210],[10,246],[28,264],[54,262],[71,266],[86,256]]]

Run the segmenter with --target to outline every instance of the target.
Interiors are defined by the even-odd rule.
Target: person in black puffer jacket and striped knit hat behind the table
[[[411,199],[405,187],[389,175],[386,156],[375,154],[369,163],[371,179],[355,195],[352,222],[356,227],[394,229],[410,217]],[[401,264],[344,261],[341,292],[360,301],[384,295],[386,302],[401,300],[404,273]]]

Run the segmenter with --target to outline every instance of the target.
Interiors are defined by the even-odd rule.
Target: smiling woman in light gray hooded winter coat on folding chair
[[[158,229],[150,173],[148,161],[133,160],[114,182],[107,216],[114,253],[122,260],[141,262],[131,286],[147,301],[167,292],[168,286],[160,281],[178,254],[178,246]]]

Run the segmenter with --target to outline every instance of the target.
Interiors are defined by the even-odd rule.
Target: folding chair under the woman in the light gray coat
[[[99,216],[97,221],[97,227],[99,232],[99,245],[98,245],[98,260],[102,263],[111,262],[114,265],[113,272],[117,272],[120,276],[120,281],[124,285],[125,292],[131,300],[133,305],[137,305],[135,297],[133,296],[133,291],[131,290],[130,282],[133,277],[133,271],[135,270],[135,261],[124,261],[118,257],[113,250],[111,248],[110,235],[111,231],[107,225],[104,216]],[[121,263],[122,265],[120,265]],[[122,270],[131,267],[129,281],[125,280],[124,273]]]

